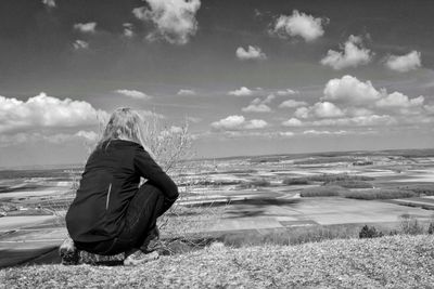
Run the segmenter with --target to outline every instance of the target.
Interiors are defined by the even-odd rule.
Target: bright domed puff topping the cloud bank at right
[[[348,75],[343,76],[341,79],[329,80],[323,93],[323,100],[352,104],[369,104],[381,97],[381,92],[372,86],[371,81],[362,82]]]

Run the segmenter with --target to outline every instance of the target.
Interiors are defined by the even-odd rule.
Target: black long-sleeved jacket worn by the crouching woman
[[[129,201],[138,192],[140,176],[163,192],[163,211],[178,198],[174,181],[141,145],[113,140],[97,148],[86,163],[77,195],[66,213],[72,239],[93,242],[117,237]]]

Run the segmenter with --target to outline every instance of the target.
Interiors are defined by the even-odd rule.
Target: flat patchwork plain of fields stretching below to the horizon
[[[432,149],[201,159],[182,168],[171,174],[181,192],[175,216],[184,226],[163,228],[171,237],[365,224],[393,229],[403,215],[423,224],[434,214]],[[0,171],[2,253],[60,244],[80,173],[77,167]],[[20,263],[11,260],[0,265]]]

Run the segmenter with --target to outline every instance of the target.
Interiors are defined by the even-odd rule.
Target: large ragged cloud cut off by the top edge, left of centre
[[[200,0],[145,0],[149,8],[132,10],[132,14],[155,27],[148,40],[164,39],[171,44],[187,44],[197,31],[195,14],[201,8]]]

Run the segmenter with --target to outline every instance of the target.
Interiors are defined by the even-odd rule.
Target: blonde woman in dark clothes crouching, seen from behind
[[[148,260],[150,241],[158,237],[156,219],[178,198],[176,184],[144,144],[143,127],[130,108],[113,113],[66,213],[76,249],[103,255],[125,252],[126,265]],[[140,178],[148,182],[139,187]],[[60,253],[63,263],[78,257],[66,247]]]

